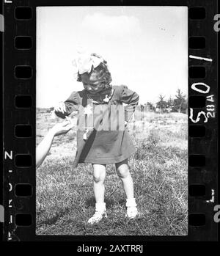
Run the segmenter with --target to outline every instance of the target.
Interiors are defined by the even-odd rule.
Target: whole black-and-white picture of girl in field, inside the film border
[[[188,7],[36,22],[36,235],[188,235]]]

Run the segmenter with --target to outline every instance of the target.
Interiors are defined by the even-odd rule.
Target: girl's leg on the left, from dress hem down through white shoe
[[[93,167],[93,189],[95,194],[95,214],[89,219],[89,224],[100,222],[103,217],[106,217],[106,204],[104,202],[106,178],[106,165],[92,164]]]

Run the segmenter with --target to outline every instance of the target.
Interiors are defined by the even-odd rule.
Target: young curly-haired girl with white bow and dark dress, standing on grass
[[[126,216],[134,219],[137,214],[133,194],[133,180],[128,169],[128,158],[135,147],[126,128],[139,95],[124,85],[112,86],[107,62],[98,54],[81,55],[76,59],[77,80],[84,89],[72,92],[70,97],[55,107],[58,117],[65,118],[78,111],[77,152],[78,163],[91,163],[95,194],[95,214],[89,223],[100,222],[106,215],[104,181],[106,164],[115,164],[126,194]],[[122,103],[128,104],[125,108]]]

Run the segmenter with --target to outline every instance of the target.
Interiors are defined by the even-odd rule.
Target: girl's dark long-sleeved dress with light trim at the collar
[[[139,101],[139,95],[123,85],[113,86],[112,89],[114,92],[109,102],[101,104],[94,103],[85,90],[72,92],[65,101],[66,113],[56,113],[59,117],[64,118],[71,112],[78,111],[76,152],[78,161],[75,161],[74,167],[77,167],[78,163],[115,164],[127,159],[135,152],[135,147],[125,127],[125,121],[129,121],[133,114]],[[124,108],[122,103],[128,105]],[[115,111],[116,109],[117,111]],[[94,121],[99,124],[95,125],[95,128],[90,125],[90,117],[93,118],[92,120],[95,117],[97,117],[96,120],[99,120]],[[118,121],[117,125],[116,120]],[[94,123],[92,121],[92,125]],[[104,130],[100,126],[105,127]],[[85,140],[86,128],[89,128],[90,131]]]

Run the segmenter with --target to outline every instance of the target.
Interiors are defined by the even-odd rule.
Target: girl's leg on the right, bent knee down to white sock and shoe
[[[128,159],[115,164],[115,167],[117,170],[117,175],[122,180],[125,194],[127,196],[127,216],[130,219],[134,219],[138,215],[138,211],[136,208],[135,198],[133,197],[133,179],[131,178],[131,173],[128,169]]]

